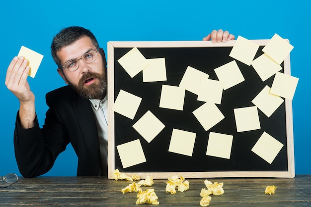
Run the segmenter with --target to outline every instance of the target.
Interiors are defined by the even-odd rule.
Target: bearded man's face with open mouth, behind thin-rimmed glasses
[[[66,46],[57,52],[64,65],[69,60],[79,59],[83,54],[89,51],[96,51],[89,37],[82,37],[72,45]],[[67,71],[57,69],[58,73],[80,96],[86,99],[103,99],[107,93],[107,76],[103,57],[97,52],[97,59],[91,63],[85,63],[82,59],[79,61],[78,69]]]

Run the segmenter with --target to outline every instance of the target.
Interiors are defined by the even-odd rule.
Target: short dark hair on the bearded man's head
[[[51,44],[51,54],[55,63],[58,66],[61,65],[61,60],[57,56],[56,52],[60,51],[63,47],[73,44],[74,42],[85,36],[91,39],[93,45],[96,48],[98,47],[98,42],[93,33],[91,33],[91,31],[83,27],[78,26],[67,27],[62,29],[57,35],[55,35]]]

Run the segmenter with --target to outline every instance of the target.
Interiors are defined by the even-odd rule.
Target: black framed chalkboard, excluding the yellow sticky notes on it
[[[263,54],[268,40],[252,40],[260,45],[255,58]],[[197,95],[185,92],[183,110],[159,107],[162,85],[178,86],[187,67],[191,66],[218,80],[214,71],[234,60],[229,54],[235,41],[213,44],[210,41],[182,42],[109,42],[108,43],[108,178],[115,169],[128,175],[138,174],[156,178],[168,178],[173,174],[187,178],[202,177],[294,177],[294,147],[292,102],[284,99],[277,110],[267,117],[258,110],[261,128],[237,132],[234,108],[254,106],[252,100],[267,85],[271,88],[274,76],[262,81],[252,66],[235,60],[244,81],[223,91],[222,103],[217,104],[225,118],[205,131],[193,111],[205,102],[197,101]],[[166,81],[143,82],[142,72],[133,78],[118,60],[137,48],[145,58],[165,58]],[[255,59],[254,58],[254,59]],[[280,72],[290,74],[290,57],[281,64]],[[120,90],[142,98],[134,119],[112,110]],[[148,111],[165,125],[156,138],[148,143],[133,125]],[[168,151],[172,129],[196,133],[192,156]],[[210,132],[233,135],[230,159],[206,155]],[[263,132],[277,139],[284,146],[270,164],[251,151]],[[140,140],[146,161],[123,167],[117,146]],[[221,150],[222,146],[219,146]],[[128,152],[129,154],[131,152]],[[269,153],[269,152],[267,152]]]

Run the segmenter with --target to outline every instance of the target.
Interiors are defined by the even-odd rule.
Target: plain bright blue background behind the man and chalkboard
[[[202,40],[213,29],[237,38],[290,40],[292,76],[299,83],[293,99],[296,174],[311,174],[310,34],[311,1],[306,0],[15,0],[0,7],[0,175],[17,173],[13,130],[18,100],[4,85],[7,66],[23,45],[44,55],[36,77],[28,77],[36,96],[40,126],[45,94],[64,86],[50,55],[52,38],[64,27],[90,29],[106,51],[108,41]],[[71,146],[45,176],[76,176],[77,156]]]

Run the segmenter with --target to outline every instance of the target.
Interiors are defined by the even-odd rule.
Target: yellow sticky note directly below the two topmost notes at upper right
[[[262,81],[267,80],[276,72],[282,70],[281,65],[274,61],[267,54],[262,54],[254,59],[251,65],[253,66]]]

